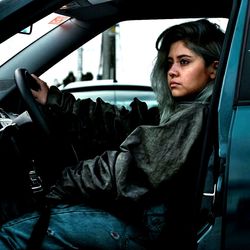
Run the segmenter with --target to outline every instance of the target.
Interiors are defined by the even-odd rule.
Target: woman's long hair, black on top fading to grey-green
[[[159,103],[161,123],[168,119],[177,105],[167,84],[167,58],[171,44],[183,41],[187,48],[204,59],[205,65],[208,67],[212,62],[219,60],[223,40],[224,32],[219,25],[211,23],[207,19],[174,25],[159,35],[156,40],[158,53],[151,72],[151,84]],[[205,89],[196,96],[195,101],[207,101],[211,96],[212,87],[213,83],[208,83]]]

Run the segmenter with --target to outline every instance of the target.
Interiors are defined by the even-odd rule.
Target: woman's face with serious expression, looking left
[[[168,86],[174,97],[184,97],[201,91],[215,78],[214,62],[205,66],[204,59],[188,49],[183,41],[177,41],[170,47],[168,54]]]

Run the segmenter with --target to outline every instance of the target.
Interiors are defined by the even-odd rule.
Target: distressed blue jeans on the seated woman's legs
[[[157,238],[164,224],[162,212],[159,207],[148,210],[145,225],[138,227],[83,204],[59,205],[51,210],[41,249],[146,249],[146,242]],[[26,249],[38,218],[39,214],[33,212],[4,224],[0,249]]]

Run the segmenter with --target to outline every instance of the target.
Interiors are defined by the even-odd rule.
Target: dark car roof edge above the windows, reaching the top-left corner
[[[0,1],[0,42],[51,12],[78,20],[114,21],[153,18],[228,18],[233,0],[2,0]],[[173,11],[173,9],[178,11]],[[20,21],[21,20],[21,21]]]

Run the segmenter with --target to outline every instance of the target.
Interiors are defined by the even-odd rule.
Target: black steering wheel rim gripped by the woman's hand
[[[49,136],[51,134],[51,131],[49,129],[48,122],[46,121],[46,117],[41,107],[34,99],[30,90],[38,90],[40,86],[26,69],[17,68],[15,70],[14,76],[16,85],[23,100],[27,105],[27,110],[32,120],[36,123],[36,125],[42,130],[45,135]]]

